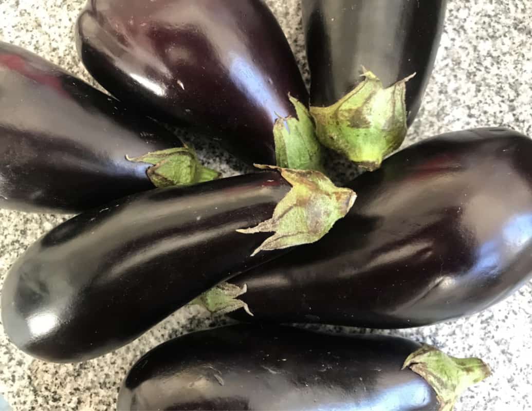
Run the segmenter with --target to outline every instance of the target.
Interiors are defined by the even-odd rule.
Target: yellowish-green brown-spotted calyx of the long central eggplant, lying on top
[[[253,252],[276,250],[309,244],[325,236],[353,206],[356,194],[336,187],[324,174],[315,170],[292,170],[272,165],[255,165],[260,169],[278,170],[292,185],[280,200],[271,219],[253,228],[237,230],[243,234],[273,232]]]

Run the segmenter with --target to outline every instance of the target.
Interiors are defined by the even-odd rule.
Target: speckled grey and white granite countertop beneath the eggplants
[[[299,2],[268,0],[307,76]],[[84,3],[1,0],[0,40],[26,47],[94,84],[78,60],[73,40],[73,24]],[[488,125],[532,135],[530,0],[449,0],[434,74],[406,144]],[[207,165],[220,168],[222,163],[226,176],[247,170],[214,144],[186,138],[194,141]],[[15,259],[65,219],[0,210],[0,285]],[[122,378],[143,353],[181,333],[223,321],[200,308],[185,307],[114,353],[65,365],[24,355],[0,330],[0,395],[15,410],[111,410]],[[467,391],[457,411],[532,409],[532,283],[468,318],[379,332],[425,341],[456,356],[478,356],[492,366],[494,375]],[[5,409],[2,404],[0,399],[0,410]]]

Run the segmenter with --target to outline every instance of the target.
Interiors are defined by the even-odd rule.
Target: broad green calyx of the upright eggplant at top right
[[[413,76],[383,88],[375,74],[365,71],[364,80],[338,102],[311,107],[318,140],[360,167],[378,169],[406,136],[406,82]]]

